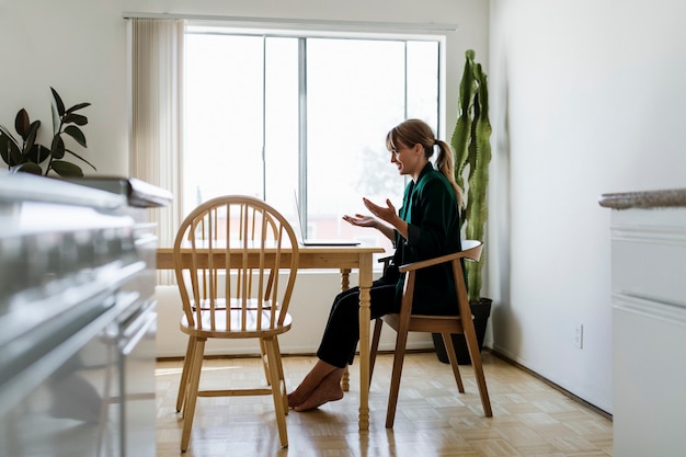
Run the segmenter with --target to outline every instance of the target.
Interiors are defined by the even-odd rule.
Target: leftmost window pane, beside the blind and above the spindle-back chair
[[[262,37],[186,35],[183,205],[263,197]]]

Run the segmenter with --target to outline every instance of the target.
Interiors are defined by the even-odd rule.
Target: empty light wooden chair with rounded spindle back
[[[288,446],[288,399],[278,335],[290,329],[288,305],[298,270],[298,242],[288,221],[266,203],[229,195],[210,199],[181,224],[174,261],[183,305],[181,331],[188,346],[178,410],[183,405],[181,450],[188,448],[197,397],[271,395],[282,447]],[[208,339],[255,339],[266,386],[202,390]]]

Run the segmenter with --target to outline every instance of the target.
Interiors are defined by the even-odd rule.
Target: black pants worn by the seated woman
[[[371,319],[400,310],[400,302],[396,302],[397,277],[393,272],[371,284]],[[359,287],[353,287],[336,295],[333,300],[317,356],[330,365],[344,368],[353,363],[358,341]]]

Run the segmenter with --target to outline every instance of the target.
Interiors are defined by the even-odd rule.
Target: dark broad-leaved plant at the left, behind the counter
[[[0,157],[12,172],[27,172],[47,176],[53,171],[64,178],[83,176],[81,167],[65,160],[67,153],[88,163],[93,170],[95,167],[68,149],[64,137],[70,137],[80,146],[87,147],[85,136],[80,127],[88,124],[88,117],[77,112],[90,106],[90,103],[78,103],[65,108],[57,91],[53,88],[50,91],[53,93],[53,139],[50,147],[37,142],[41,121],[31,122],[26,110],[21,108],[14,119],[14,128],[21,141],[14,138],[5,126],[0,125]],[[43,167],[45,167],[45,171]]]

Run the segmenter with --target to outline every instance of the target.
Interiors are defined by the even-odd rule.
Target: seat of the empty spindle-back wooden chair
[[[249,309],[244,313],[240,309],[231,309],[230,312],[230,328],[227,328],[225,308],[215,311],[214,322],[211,322],[213,315],[209,311],[202,311],[201,325],[190,325],[186,317],[182,317],[181,331],[196,338],[265,338],[287,332],[293,321],[290,315],[286,313],[283,325],[271,328],[270,320],[273,312],[268,309],[262,310],[261,313],[253,309]],[[244,317],[244,321],[242,321],[242,317]],[[274,321],[277,320],[278,311],[274,313]]]

